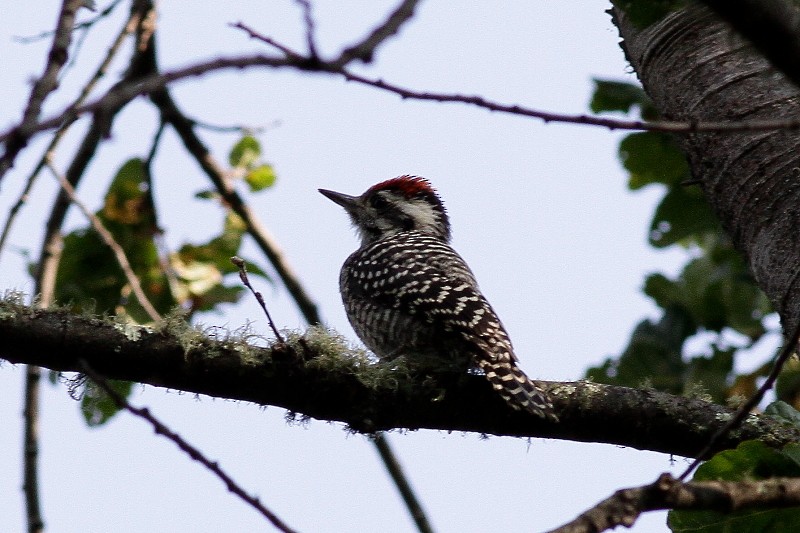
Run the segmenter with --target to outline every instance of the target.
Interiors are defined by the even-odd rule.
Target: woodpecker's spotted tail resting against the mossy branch
[[[514,409],[527,411],[540,418],[558,422],[550,397],[516,365],[507,361],[480,359],[478,366],[500,396]]]

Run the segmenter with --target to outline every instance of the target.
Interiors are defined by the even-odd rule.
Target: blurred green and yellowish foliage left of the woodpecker
[[[232,174],[241,174],[251,191],[275,183],[273,168],[261,161],[261,145],[245,135],[228,157]],[[216,193],[196,195],[202,200],[218,200]],[[238,277],[226,283],[226,276],[237,269],[230,258],[239,255],[246,232],[244,222],[222,202],[225,221],[219,235],[202,244],[184,244],[177,252],[164,251],[161,230],[151,197],[150,169],[142,159],[126,161],[109,185],[103,207],[96,216],[123,249],[131,269],[146,296],[160,314],[180,307],[188,316],[197,311],[213,311],[220,304],[236,302],[243,294]],[[266,277],[253,261],[248,271]],[[150,320],[135,298],[122,268],[112,251],[87,224],[64,237],[64,248],[56,276],[56,300],[76,311],[116,315],[121,323],[146,323]],[[127,396],[131,384],[111,382],[117,392]],[[87,424],[99,426],[117,412],[116,404],[87,381],[76,391]]]

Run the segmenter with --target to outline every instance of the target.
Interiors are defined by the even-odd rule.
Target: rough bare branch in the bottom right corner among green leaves
[[[643,512],[663,509],[730,513],[797,505],[800,478],[681,483],[669,474],[661,474],[650,485],[618,490],[550,533],[600,533],[617,526],[631,527]]]

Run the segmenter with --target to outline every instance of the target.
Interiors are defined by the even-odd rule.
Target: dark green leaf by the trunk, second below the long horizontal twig
[[[690,237],[719,232],[711,206],[697,189],[673,187],[656,207],[650,224],[650,244],[664,248]]]

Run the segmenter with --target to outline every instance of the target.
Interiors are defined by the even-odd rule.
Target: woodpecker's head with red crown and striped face
[[[403,231],[450,240],[450,221],[442,200],[425,178],[400,176],[373,185],[361,196],[319,192],[345,208],[362,246]]]

